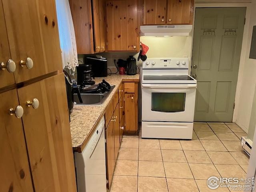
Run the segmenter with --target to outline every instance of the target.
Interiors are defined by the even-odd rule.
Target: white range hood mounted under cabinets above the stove
[[[189,36],[192,25],[143,25],[140,36]]]

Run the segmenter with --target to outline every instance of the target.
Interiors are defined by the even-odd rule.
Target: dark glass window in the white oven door
[[[152,111],[181,112],[185,111],[186,93],[152,93]]]

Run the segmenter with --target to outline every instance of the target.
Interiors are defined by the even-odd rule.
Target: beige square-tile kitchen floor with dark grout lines
[[[124,136],[111,192],[229,192],[210,190],[210,176],[246,177],[247,134],[234,123],[195,122],[192,140]]]

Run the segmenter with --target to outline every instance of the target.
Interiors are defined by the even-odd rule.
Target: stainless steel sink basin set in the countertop
[[[115,86],[111,86],[111,89],[107,93],[102,94],[81,94],[83,102],[80,103],[77,94],[74,94],[74,105],[102,105],[108,95],[112,92]]]

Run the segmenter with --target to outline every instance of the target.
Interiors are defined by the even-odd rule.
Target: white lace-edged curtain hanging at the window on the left
[[[78,66],[76,38],[68,0],[56,0],[63,68],[75,71]]]

